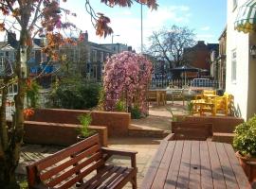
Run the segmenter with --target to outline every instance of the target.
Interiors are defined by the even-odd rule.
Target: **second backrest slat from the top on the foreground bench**
[[[85,158],[86,156],[91,156],[92,154],[99,152],[100,150],[100,146],[96,145],[96,146],[92,146],[89,149],[82,151],[80,154],[76,155],[74,158],[58,165],[55,166],[53,168],[51,168],[50,170],[40,174],[40,179],[41,180],[48,180],[50,179],[52,176],[60,173],[62,170],[64,170],[65,168],[78,163],[79,161],[81,161],[83,158]]]

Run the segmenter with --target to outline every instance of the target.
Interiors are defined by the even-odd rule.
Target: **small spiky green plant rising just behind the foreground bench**
[[[88,126],[92,122],[91,113],[85,113],[85,114],[79,115],[78,119],[82,125],[79,131],[83,138],[86,138],[95,133],[94,130],[88,129]]]

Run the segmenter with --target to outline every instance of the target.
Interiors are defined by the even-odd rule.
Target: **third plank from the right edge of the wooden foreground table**
[[[210,167],[213,179],[213,186],[214,188],[218,189],[227,188],[215,143],[208,142],[208,148],[210,155]]]

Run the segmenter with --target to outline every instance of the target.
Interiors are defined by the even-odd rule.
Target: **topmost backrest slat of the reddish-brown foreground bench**
[[[42,171],[46,169],[46,167],[51,166],[52,164],[59,163],[65,158],[76,154],[79,151],[82,151],[83,149],[86,149],[90,146],[94,146],[96,144],[99,145],[99,135],[94,135],[89,137],[90,140],[83,140],[80,143],[77,143],[73,146],[69,146],[64,148],[61,151],[58,151],[53,156],[46,157],[45,159],[38,161],[37,164],[37,170]]]

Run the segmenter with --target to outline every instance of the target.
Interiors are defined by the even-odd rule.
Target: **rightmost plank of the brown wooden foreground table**
[[[247,180],[247,176],[238,162],[238,159],[234,155],[234,149],[229,144],[224,144],[224,147],[226,149],[227,155],[229,157],[229,162],[231,163],[235,178],[239,184],[239,187],[242,189],[251,188],[249,185],[249,182]]]

